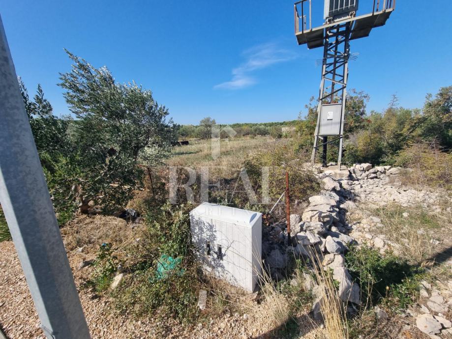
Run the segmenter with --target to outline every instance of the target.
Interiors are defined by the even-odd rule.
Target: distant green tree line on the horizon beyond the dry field
[[[235,137],[247,137],[247,136],[271,136],[273,138],[283,137],[281,131],[282,127],[290,127],[296,125],[298,120],[283,121],[283,122],[262,122],[262,123],[233,123],[227,126],[234,129],[236,132]],[[220,131],[226,125],[216,124],[215,120],[211,117],[206,117],[199,122],[199,125],[180,125],[178,129],[178,135],[180,140],[200,138],[209,139],[211,137],[211,129],[216,125]],[[226,131],[220,132],[221,138],[228,138],[229,134]]]

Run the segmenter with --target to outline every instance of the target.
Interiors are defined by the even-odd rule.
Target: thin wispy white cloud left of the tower
[[[296,55],[279,48],[275,43],[267,43],[243,52],[246,61],[232,70],[230,81],[213,86],[215,89],[240,89],[256,84],[251,72],[269,67],[275,63],[292,60]]]

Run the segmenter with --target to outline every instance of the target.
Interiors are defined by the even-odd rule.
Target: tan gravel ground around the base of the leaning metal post
[[[90,274],[90,267],[82,270],[75,267],[86,258],[85,254],[70,251],[68,258],[93,339],[271,338],[271,328],[262,317],[262,310],[249,314],[247,319],[239,314],[225,314],[191,325],[181,325],[174,319],[157,321],[117,314],[112,311],[108,297],[93,298],[93,293],[80,288],[83,279]],[[3,333],[8,339],[45,339],[12,241],[0,243],[0,272],[0,327]],[[318,338],[319,331],[307,326],[301,337]]]

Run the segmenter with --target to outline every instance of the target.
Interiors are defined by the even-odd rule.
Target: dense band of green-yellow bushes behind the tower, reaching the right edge
[[[344,125],[345,164],[369,162],[374,165],[394,164],[398,152],[415,142],[433,142],[444,150],[452,147],[452,86],[441,87],[433,97],[428,94],[422,110],[398,106],[394,95],[388,108],[366,114],[369,96],[352,90],[347,97]],[[307,115],[300,119],[299,149],[311,148],[317,118],[317,104],[311,99]],[[337,142],[329,144],[328,161],[337,159]],[[321,152],[318,152],[321,153]],[[320,154],[318,154],[320,159]]]

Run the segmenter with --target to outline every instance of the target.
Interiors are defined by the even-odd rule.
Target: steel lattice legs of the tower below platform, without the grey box
[[[322,59],[322,80],[320,82],[317,124],[314,133],[314,147],[311,162],[315,160],[317,148],[323,148],[323,166],[326,166],[327,145],[339,139],[338,165],[342,159],[342,140],[345,118],[345,100],[347,96],[348,59],[350,56],[350,22],[338,24],[326,29]],[[320,119],[323,105],[340,104],[339,135],[328,141],[328,135],[321,135]],[[328,119],[328,117],[327,117]],[[319,144],[319,140],[322,142]]]

